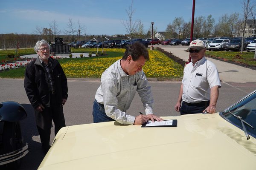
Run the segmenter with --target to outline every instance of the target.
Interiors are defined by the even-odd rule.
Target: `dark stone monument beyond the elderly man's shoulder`
[[[55,54],[71,54],[69,44],[63,44],[63,38],[55,38],[55,44],[51,44],[51,51]]]

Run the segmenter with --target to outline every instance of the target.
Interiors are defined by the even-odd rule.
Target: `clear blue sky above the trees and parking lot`
[[[191,21],[193,0],[134,0],[134,20],[141,20],[145,31],[154,22],[165,31],[175,17]],[[130,0],[0,0],[0,34],[32,34],[36,26],[49,28],[56,20],[63,34],[68,19],[79,22],[87,35],[127,34],[122,20]],[[215,22],[223,14],[242,14],[240,0],[196,0],[195,17],[212,14]],[[77,24],[75,24],[76,26]],[[81,32],[84,34],[84,31]]]

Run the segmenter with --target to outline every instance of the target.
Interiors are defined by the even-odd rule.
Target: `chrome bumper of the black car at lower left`
[[[29,153],[28,143],[26,143],[26,145],[24,147],[21,147],[18,150],[0,155],[0,165],[8,164],[10,162],[16,161],[16,160],[24,157],[27,153]]]

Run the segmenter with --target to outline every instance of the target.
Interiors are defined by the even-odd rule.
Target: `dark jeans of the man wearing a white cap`
[[[206,107],[210,104],[209,101],[206,102]],[[182,102],[180,107],[180,114],[194,114],[194,113],[203,113],[205,109],[205,102],[198,105],[186,105],[185,102]]]

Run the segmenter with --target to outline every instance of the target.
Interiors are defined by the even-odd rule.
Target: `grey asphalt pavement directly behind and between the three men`
[[[180,88],[180,82],[154,82],[151,81],[154,96],[154,112],[158,116],[178,116],[174,110]],[[93,122],[92,105],[97,88],[98,79],[68,79],[69,97],[64,105],[66,125],[80,125]],[[0,79],[0,102],[16,101],[22,104],[28,117],[21,122],[24,141],[29,143],[29,154],[24,157],[20,170],[36,170],[44,158],[41,151],[40,138],[35,125],[35,116],[32,106],[27,99],[23,88],[23,79]],[[256,89],[255,82],[248,83],[222,83],[217,111],[241,99],[243,96]],[[138,95],[135,96],[128,114],[138,115],[143,112],[143,106]],[[52,128],[51,141],[54,139]]]

